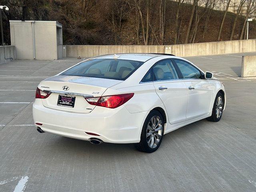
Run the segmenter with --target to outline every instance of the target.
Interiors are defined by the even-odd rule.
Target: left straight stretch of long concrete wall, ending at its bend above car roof
[[[94,57],[114,53],[164,53],[157,45],[66,45],[66,57]],[[64,54],[63,54],[64,55]]]

